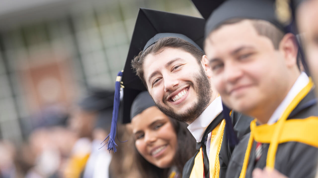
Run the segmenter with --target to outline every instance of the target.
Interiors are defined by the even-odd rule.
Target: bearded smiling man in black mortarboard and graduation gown
[[[198,151],[185,165],[183,177],[219,177],[220,170],[226,170],[235,145],[232,142],[237,139],[234,130],[242,137],[251,121],[234,111],[230,118],[227,111],[225,118],[230,122],[225,124],[222,100],[200,47],[204,22],[201,18],[141,9],[122,78],[124,110],[131,105],[125,107],[129,98],[147,88],[164,114],[189,124]],[[129,96],[127,87],[135,90]]]

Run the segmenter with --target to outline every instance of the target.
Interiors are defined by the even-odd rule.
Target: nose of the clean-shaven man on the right
[[[235,83],[243,74],[243,71],[234,62],[227,62],[224,66],[224,80],[226,82]]]

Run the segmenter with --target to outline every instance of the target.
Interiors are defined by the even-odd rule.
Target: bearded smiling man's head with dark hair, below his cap
[[[206,55],[183,39],[159,38],[132,66],[158,108],[178,121],[191,124],[218,97]]]

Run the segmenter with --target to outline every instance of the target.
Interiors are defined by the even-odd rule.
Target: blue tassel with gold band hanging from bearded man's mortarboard
[[[123,71],[120,71],[117,74],[117,78],[116,78],[116,82],[115,82],[115,96],[114,96],[114,108],[113,108],[112,124],[111,124],[111,127],[110,127],[110,133],[105,138],[105,140],[106,140],[109,137],[109,140],[108,140],[108,142],[106,142],[104,144],[104,145],[106,145],[108,143],[107,144],[107,149],[108,149],[109,152],[111,150],[114,151],[114,152],[117,151],[117,149],[116,149],[117,144],[115,143],[115,136],[116,136],[116,129],[117,129],[119,103],[120,103],[120,88],[121,88],[122,72]],[[105,142],[105,140],[103,142]]]

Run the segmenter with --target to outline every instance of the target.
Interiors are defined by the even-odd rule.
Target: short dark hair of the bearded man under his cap
[[[203,52],[195,47],[193,44],[177,37],[164,37],[159,39],[155,44],[149,46],[145,51],[141,51],[133,60],[131,60],[131,66],[133,67],[136,75],[142,80],[144,85],[147,87],[146,80],[144,78],[144,73],[142,65],[144,59],[148,54],[160,54],[165,48],[177,48],[182,49],[185,52],[190,53],[193,57],[197,59],[197,62],[200,63]]]

